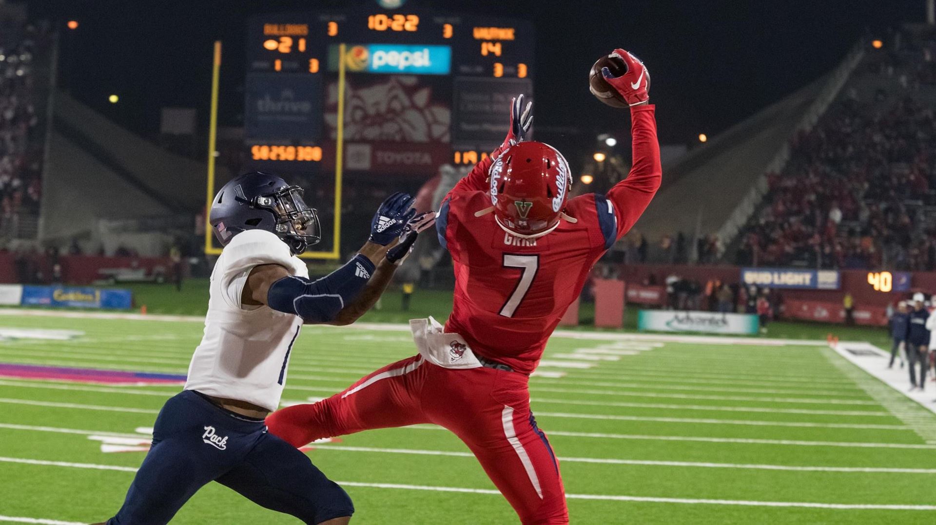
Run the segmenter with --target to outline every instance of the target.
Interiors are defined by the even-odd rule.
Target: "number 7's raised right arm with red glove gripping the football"
[[[631,141],[633,167],[627,178],[607,192],[607,201],[617,219],[617,238],[620,239],[634,226],[656,195],[663,178],[660,164],[660,145],[656,138],[655,107],[649,102],[650,73],[634,55],[615,50],[627,65],[627,72],[614,77],[607,67],[602,74],[607,83],[627,100],[631,110]],[[601,212],[601,210],[599,210]]]

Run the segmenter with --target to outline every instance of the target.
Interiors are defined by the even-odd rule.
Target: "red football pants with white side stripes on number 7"
[[[524,525],[568,523],[559,462],[530,412],[528,379],[490,368],[446,369],[409,357],[327,400],[278,410],[267,417],[267,426],[299,447],[361,430],[435,423],[475,453]]]

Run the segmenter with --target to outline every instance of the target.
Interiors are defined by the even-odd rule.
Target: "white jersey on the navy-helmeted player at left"
[[[214,265],[205,335],[192,356],[185,389],[273,411],[279,408],[302,318],[241,304],[247,275],[261,264],[278,264],[293,275],[309,277],[305,263],[271,232],[237,234]]]

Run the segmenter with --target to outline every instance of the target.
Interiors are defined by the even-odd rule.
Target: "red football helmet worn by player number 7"
[[[490,166],[494,219],[517,237],[541,237],[556,229],[571,190],[565,157],[543,142],[510,146]]]

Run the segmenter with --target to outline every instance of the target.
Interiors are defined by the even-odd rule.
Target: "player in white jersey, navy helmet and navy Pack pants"
[[[156,418],[153,446],[109,525],[167,523],[211,481],[305,523],[342,525],[354,507],[294,446],[267,432],[303,324],[346,325],[367,312],[434,214],[389,197],[350,262],[311,281],[299,255],[320,239],[302,189],[267,173],[228,182],[211,224],[225,246],[212,271],[205,332],[183,392]]]

